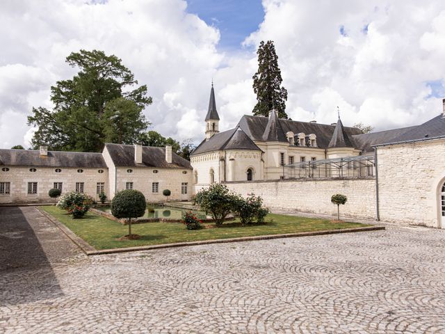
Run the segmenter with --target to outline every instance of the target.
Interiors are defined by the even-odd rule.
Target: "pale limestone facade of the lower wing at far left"
[[[98,200],[97,182],[104,182],[104,191],[109,196],[108,169],[107,168],[66,168],[60,167],[60,173],[56,173],[57,167],[35,166],[35,172],[31,172],[31,166],[7,166],[8,172],[0,169],[0,182],[10,182],[10,194],[0,194],[0,203],[24,203],[24,202],[51,202],[49,189],[54,188],[54,182],[62,182],[62,193],[76,190],[76,182],[83,182],[83,192]],[[3,166],[2,166],[3,168]],[[77,170],[83,170],[78,173]],[[98,170],[103,173],[98,173]],[[37,194],[28,194],[28,182],[38,182]]]

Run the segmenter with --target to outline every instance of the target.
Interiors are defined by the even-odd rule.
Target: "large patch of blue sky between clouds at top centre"
[[[221,34],[219,49],[239,49],[264,19],[261,0],[188,0],[188,13],[197,14]]]

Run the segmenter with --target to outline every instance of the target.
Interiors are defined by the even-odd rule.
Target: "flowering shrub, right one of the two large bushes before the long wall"
[[[245,199],[241,196],[236,198],[234,213],[243,225],[252,223],[254,219],[256,219],[257,223],[264,223],[264,218],[266,218],[269,213],[269,209],[262,206],[263,199],[260,196],[255,196],[254,193],[248,193],[248,197]]]

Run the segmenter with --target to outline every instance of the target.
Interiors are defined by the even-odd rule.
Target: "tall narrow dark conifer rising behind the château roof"
[[[253,76],[253,90],[257,94],[257,105],[253,109],[255,116],[268,116],[275,109],[279,118],[288,118],[286,114],[287,90],[280,87],[283,81],[278,67],[278,56],[272,40],[259,43],[258,72]]]

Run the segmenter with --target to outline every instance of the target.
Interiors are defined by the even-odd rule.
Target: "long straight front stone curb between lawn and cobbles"
[[[127,252],[137,252],[140,250],[154,250],[161,248],[174,248],[182,246],[198,246],[198,245],[209,245],[209,244],[225,244],[229,242],[241,242],[241,241],[255,241],[255,240],[268,240],[268,239],[282,239],[291,237],[312,237],[317,235],[325,234],[339,234],[339,233],[352,233],[352,232],[368,232],[385,230],[384,226],[372,226],[368,228],[345,228],[343,230],[325,230],[318,232],[300,232],[300,233],[288,233],[288,234],[269,234],[269,235],[257,235],[254,237],[241,237],[232,239],[214,239],[214,240],[202,240],[202,241],[190,241],[190,242],[179,242],[176,244],[162,244],[162,245],[152,245],[152,246],[136,246],[136,247],[124,247],[124,248],[109,248],[102,250],[84,250],[86,255],[104,255],[113,253],[127,253]]]

